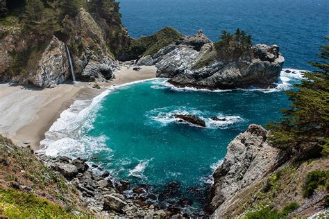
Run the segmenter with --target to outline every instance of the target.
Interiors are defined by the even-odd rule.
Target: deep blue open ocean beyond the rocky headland
[[[329,36],[328,0],[120,0],[133,37],[173,26],[185,35],[203,29],[217,41],[221,30],[246,30],[256,44],[278,44],[285,67],[312,70]]]

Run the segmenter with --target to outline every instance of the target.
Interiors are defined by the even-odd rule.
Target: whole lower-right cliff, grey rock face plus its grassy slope
[[[305,183],[313,171],[328,172],[328,158],[290,162],[285,152],[267,142],[267,134],[260,125],[250,125],[228,145],[223,164],[214,172],[205,209],[212,218],[253,218],[253,213],[273,212],[285,212],[278,217],[312,216],[326,208],[328,189],[305,197]]]

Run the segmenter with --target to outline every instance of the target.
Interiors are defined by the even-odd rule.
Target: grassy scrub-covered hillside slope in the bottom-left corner
[[[0,182],[0,217],[74,218],[74,213],[86,216],[74,186],[45,167],[31,150],[19,148],[1,135]]]

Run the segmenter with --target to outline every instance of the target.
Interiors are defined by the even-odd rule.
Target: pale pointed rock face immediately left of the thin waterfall
[[[39,61],[37,71],[30,72],[28,81],[36,87],[55,87],[69,78],[69,63],[65,43],[52,37]]]

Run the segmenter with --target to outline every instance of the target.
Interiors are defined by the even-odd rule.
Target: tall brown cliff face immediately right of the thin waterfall
[[[112,78],[113,71],[119,69],[119,63],[110,55],[103,29],[92,15],[83,8],[74,21],[64,19],[70,38],[70,47],[78,46],[78,53],[72,52],[77,78],[86,81],[103,82]]]

